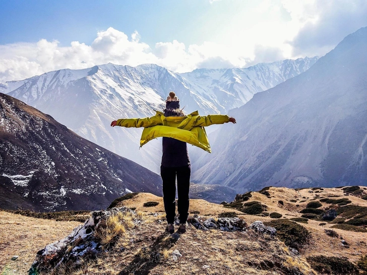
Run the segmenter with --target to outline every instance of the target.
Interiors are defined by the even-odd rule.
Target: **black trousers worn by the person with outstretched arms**
[[[177,176],[177,210],[179,222],[186,223],[189,216],[189,190],[191,165],[180,167],[161,166],[163,181],[163,202],[167,223],[173,224],[176,216],[176,176]]]

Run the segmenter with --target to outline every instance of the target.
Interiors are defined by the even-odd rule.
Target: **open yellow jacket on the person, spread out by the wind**
[[[165,136],[195,145],[211,153],[204,126],[223,124],[229,121],[227,115],[200,116],[198,111],[186,116],[164,116],[162,112],[146,118],[122,118],[116,125],[121,127],[144,127],[140,147],[156,137]]]

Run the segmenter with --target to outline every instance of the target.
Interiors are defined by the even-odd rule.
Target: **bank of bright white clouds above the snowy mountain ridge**
[[[174,72],[189,72],[323,55],[344,36],[367,25],[365,0],[264,0],[254,4],[247,16],[243,16],[245,10],[226,22],[206,26],[215,37],[201,44],[173,40],[150,47],[138,31],[129,37],[108,28],[98,32],[90,45],[73,41],[70,46],[60,46],[58,41],[45,39],[0,45],[0,82],[108,62],[131,66],[155,63]]]

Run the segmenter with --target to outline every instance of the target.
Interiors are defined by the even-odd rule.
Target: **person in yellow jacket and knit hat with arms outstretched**
[[[163,182],[163,203],[166,213],[169,233],[174,232],[175,196],[177,178],[177,211],[179,233],[186,232],[186,222],[189,216],[189,190],[191,164],[187,143],[202,148],[211,153],[208,137],[204,126],[236,123],[228,115],[200,116],[198,111],[185,115],[180,109],[179,99],[170,92],[166,99],[166,108],[156,115],[146,118],[120,118],[113,120],[111,126],[144,127],[140,147],[156,137],[162,139],[161,177]]]

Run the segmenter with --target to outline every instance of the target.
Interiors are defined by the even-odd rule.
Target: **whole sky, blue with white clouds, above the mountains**
[[[324,55],[367,26],[367,1],[0,0],[0,26],[0,83],[108,62],[188,72]]]

